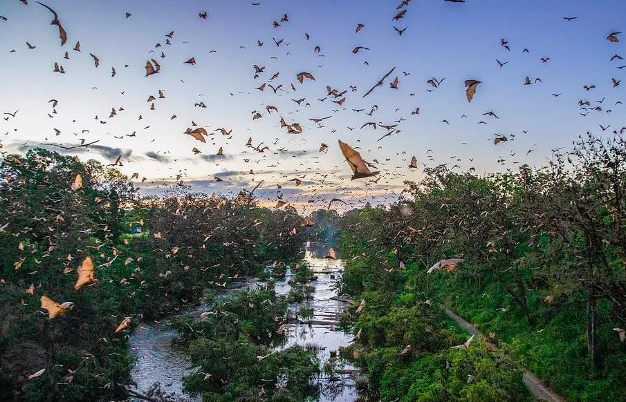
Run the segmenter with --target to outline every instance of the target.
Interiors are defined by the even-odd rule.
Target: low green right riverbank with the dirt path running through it
[[[347,264],[342,280],[343,291],[356,299],[351,322],[360,333],[358,363],[370,378],[370,391],[378,392],[383,400],[423,397],[430,401],[438,400],[436,395],[456,400],[459,392],[475,392],[471,384],[477,379],[506,393],[479,394],[473,399],[476,401],[526,401],[532,399],[528,391],[537,400],[625,400],[618,379],[611,374],[620,370],[609,366],[604,378],[591,375],[580,305],[555,306],[531,327],[508,294],[495,284],[476,291],[475,285],[445,271],[427,275],[423,265],[416,262],[405,264],[404,269],[385,268],[394,265],[393,260],[380,262],[360,253]],[[365,300],[365,307],[356,314],[361,300]],[[437,307],[440,305],[443,307]],[[609,313],[605,305],[598,307],[601,319]],[[398,321],[412,329],[397,328]],[[604,327],[600,329],[609,333]],[[479,331],[486,336],[480,336]],[[469,349],[451,354],[449,348],[463,344],[470,334],[477,336]],[[448,346],[433,350],[432,343],[438,341]],[[490,345],[497,345],[499,350],[484,353],[495,349]],[[475,354],[492,367],[490,375],[481,373],[484,367],[470,364]],[[463,370],[455,371],[455,358],[463,363]],[[412,373],[411,367],[418,374]],[[459,391],[459,373],[466,377],[466,390]]]

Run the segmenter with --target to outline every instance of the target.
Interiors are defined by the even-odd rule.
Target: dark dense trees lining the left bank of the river
[[[42,149],[7,155],[0,175],[3,401],[124,398],[133,362],[126,332],[113,332],[125,317],[132,328],[172,314],[303,241],[295,210],[258,207],[249,193],[140,199],[118,171]],[[87,256],[98,283],[74,290]],[[50,320],[42,296],[74,307]]]

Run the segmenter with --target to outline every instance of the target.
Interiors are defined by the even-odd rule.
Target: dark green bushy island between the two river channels
[[[185,376],[186,392],[203,401],[302,401],[315,394],[320,362],[301,347],[282,343],[288,300],[266,289],[217,300],[205,318],[187,316],[174,326],[197,372]]]

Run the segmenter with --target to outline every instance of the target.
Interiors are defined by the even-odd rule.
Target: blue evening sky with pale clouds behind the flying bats
[[[32,0],[27,6],[4,0],[0,15],[8,20],[0,21],[0,111],[19,109],[15,119],[0,120],[4,148],[15,151],[39,143],[100,140],[98,145],[113,151],[94,148],[80,156],[104,161],[120,149],[126,161],[122,171],[138,172],[149,182],[158,179],[155,184],[143,184],[149,191],[156,191],[158,183],[176,180],[176,173],[203,191],[237,191],[266,180],[261,194],[270,197],[280,184],[298,204],[314,190],[327,197],[359,199],[393,195],[392,189],[399,193],[402,180],[421,178],[421,169],[407,169],[411,155],[429,165],[451,162],[451,166],[475,167],[479,172],[515,168],[513,162],[540,165],[551,149],[569,146],[578,134],[608,135],[624,125],[624,106],[615,104],[626,101],[624,86],[613,88],[611,78],[624,77],[626,68],[616,67],[626,62],[609,60],[616,54],[626,57],[626,35],[616,44],[605,40],[610,32],[626,32],[624,1],[413,0],[399,21],[392,17],[400,1],[255,2],[261,5],[252,6],[250,1],[48,0],[68,32],[68,43],[61,47],[57,30],[49,25],[50,12]],[[206,20],[198,17],[204,11],[208,12]],[[125,12],[132,16],[126,19]],[[285,13],[289,21],[273,28],[273,21]],[[566,16],[578,18],[568,22],[563,19]],[[365,28],[357,34],[358,23]],[[408,28],[399,37],[393,26]],[[167,46],[165,35],[172,30],[174,39]],[[305,32],[311,35],[309,41]],[[289,45],[277,47],[273,37],[284,38]],[[503,38],[510,52],[500,46]],[[82,44],[80,53],[72,50],[77,40]],[[257,40],[264,46],[257,46]],[[37,48],[29,50],[26,41]],[[154,48],[157,42],[163,46]],[[313,52],[315,46],[320,46],[320,53]],[[356,46],[370,50],[354,55],[351,50]],[[529,52],[523,53],[524,48]],[[63,58],[66,50],[70,60]],[[161,50],[165,59],[158,57]],[[100,67],[93,66],[89,52],[100,58]],[[183,64],[190,57],[195,57],[196,66]],[[550,60],[544,64],[541,57]],[[163,69],[144,77],[149,58],[158,59]],[[499,68],[495,59],[508,64]],[[55,61],[64,66],[65,75],[53,73]],[[257,79],[253,64],[265,67]],[[116,77],[111,77],[113,66]],[[362,99],[393,66],[396,71],[385,85]],[[315,82],[298,83],[295,74],[301,71],[313,73]],[[278,72],[275,85],[283,84],[288,91],[274,94],[270,88],[255,89]],[[389,88],[396,75],[398,90]],[[542,82],[524,86],[526,76],[533,81],[540,77]],[[445,80],[429,92],[433,88],[426,81],[432,77]],[[471,104],[465,97],[465,79],[483,81]],[[297,88],[295,93],[291,84]],[[596,88],[583,89],[591,84]],[[349,90],[342,107],[330,99],[316,100],[326,96],[326,86]],[[349,86],[356,86],[356,92]],[[156,110],[150,111],[146,99],[157,96],[159,89],[166,99],[158,99]],[[562,95],[553,97],[552,93]],[[309,102],[311,108],[291,100],[302,97],[306,98],[303,106]],[[594,102],[602,98],[602,104]],[[59,100],[54,118],[48,117],[49,99]],[[601,106],[602,111],[583,117],[580,99]],[[196,102],[208,107],[197,108]],[[374,104],[378,106],[374,115],[365,115]],[[267,105],[277,106],[279,114],[268,115]],[[111,108],[120,106],[125,110],[109,119]],[[421,113],[412,115],[416,107]],[[365,111],[356,113],[352,108]],[[253,122],[252,111],[264,117]],[[499,119],[483,115],[488,111]],[[329,115],[322,128],[309,121]],[[461,115],[468,118],[461,119]],[[287,134],[279,128],[281,116],[302,124],[304,133]],[[381,142],[376,140],[385,131],[359,129],[365,122],[392,124],[401,117],[406,119],[398,125],[401,133]],[[443,119],[450,124],[441,123]],[[218,133],[207,144],[196,142],[183,134],[192,120],[208,131],[232,128],[232,138]],[[477,124],[480,121],[488,124]],[[599,124],[611,124],[611,128],[601,132]],[[348,126],[356,129],[350,131]],[[55,135],[54,128],[61,134]],[[134,131],[136,137],[114,137]],[[515,141],[495,146],[495,134],[515,134]],[[259,154],[246,149],[250,136],[254,144],[269,145],[270,151]],[[387,163],[378,166],[385,173],[383,180],[378,184],[349,182],[339,139],[360,146],[367,160]],[[317,153],[322,142],[330,146],[326,154]],[[220,146],[224,158],[214,157]],[[194,155],[193,147],[202,153]],[[425,158],[428,149],[434,151],[434,162]],[[536,151],[526,156],[530,149]],[[504,164],[497,162],[501,158]],[[305,173],[301,186],[294,188],[288,182]],[[214,175],[225,181],[213,182]],[[317,195],[314,199],[317,204]]]

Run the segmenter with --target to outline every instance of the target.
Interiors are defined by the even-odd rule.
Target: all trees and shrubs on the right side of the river
[[[450,380],[454,362],[443,370],[445,354],[438,352],[450,345],[434,324],[441,314],[424,317],[431,314],[432,307],[424,304],[430,300],[491,333],[568,400],[624,400],[626,347],[614,328],[626,325],[625,189],[623,137],[584,137],[570,153],[555,153],[543,169],[522,166],[486,177],[445,166],[425,169],[425,178],[407,182],[403,198],[388,209],[347,213],[342,252],[357,260],[341,285],[367,300],[357,327],[363,329],[365,363],[376,379],[371,387],[388,400],[437,400],[425,396],[430,387],[449,399],[522,398],[517,374],[507,370],[504,377],[485,379],[489,390],[504,394],[458,392]],[[464,261],[451,271],[426,274],[444,258]],[[407,269],[399,270],[400,262]],[[414,305],[399,309],[405,299]],[[398,332],[398,320],[411,323],[417,334]],[[405,364],[430,368],[413,370],[406,379],[395,373],[396,364],[380,369],[387,348],[395,347],[397,356],[402,343],[426,353]],[[447,358],[477,358],[472,356],[482,349],[477,345],[463,351],[467,357]],[[480,367],[473,367],[476,379]],[[382,381],[385,372],[395,373],[387,375],[396,384],[407,381],[405,390],[422,391],[390,392]]]

